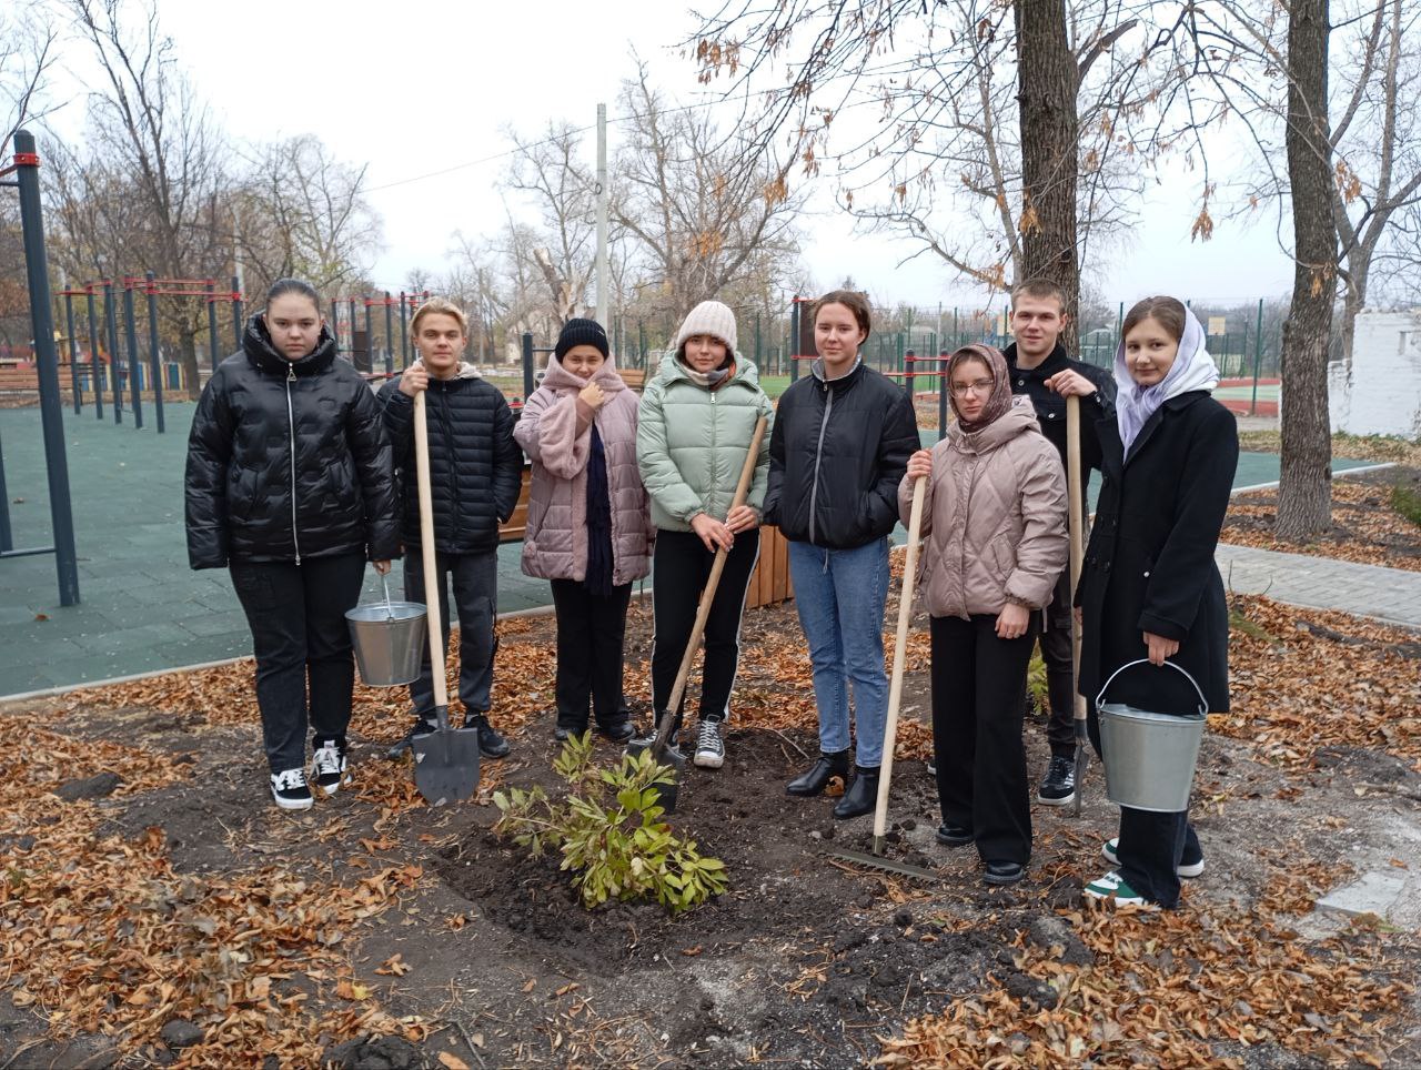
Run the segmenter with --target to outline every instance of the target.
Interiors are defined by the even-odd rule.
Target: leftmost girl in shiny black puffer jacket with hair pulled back
[[[379,408],[337,360],[308,284],[277,281],[242,351],[203,388],[188,439],[186,523],[192,567],[226,566],[247,614],[271,797],[304,810],[308,712],[317,784],[334,793],[348,783],[345,611],[365,561],[385,573],[399,550]]]

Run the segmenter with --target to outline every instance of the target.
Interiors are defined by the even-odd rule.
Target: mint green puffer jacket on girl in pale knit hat
[[[674,352],[661,360],[637,418],[637,465],[657,527],[689,531],[696,513],[725,520],[760,416],[766,418],[764,438],[746,499],[756,512],[764,504],[770,473],[774,409],[760,389],[755,364],[736,354],[735,375],[710,391],[686,375]]]

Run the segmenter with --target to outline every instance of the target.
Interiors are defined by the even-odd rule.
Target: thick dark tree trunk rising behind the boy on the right
[[[1017,104],[1022,129],[1022,274],[1066,291],[1069,330],[1061,342],[1080,351],[1080,257],[1076,246],[1076,175],[1080,131],[1076,57],[1064,0],[1016,0]]]

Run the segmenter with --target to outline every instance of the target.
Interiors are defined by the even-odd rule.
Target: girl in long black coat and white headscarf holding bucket
[[[1104,480],[1076,605],[1080,692],[1100,750],[1096,696],[1161,713],[1229,708],[1229,614],[1214,550],[1229,504],[1239,442],[1233,414],[1209,396],[1219,369],[1194,314],[1172,297],[1140,301],[1115,351],[1115,415],[1097,423]],[[1164,668],[1155,668],[1164,666]],[[1108,756],[1107,756],[1108,757]],[[1174,909],[1179,877],[1204,872],[1188,814],[1121,807],[1120,838],[1101,848],[1115,868],[1086,895],[1115,907]]]

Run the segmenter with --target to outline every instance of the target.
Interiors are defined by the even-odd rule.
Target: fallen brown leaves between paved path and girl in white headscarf
[[[1211,730],[1285,767],[1310,766],[1319,747],[1347,746],[1384,750],[1421,772],[1417,635],[1262,597],[1232,602],[1232,712],[1211,713]]]

